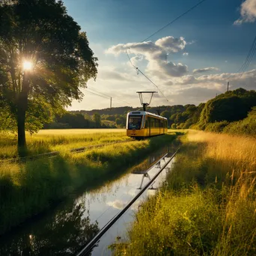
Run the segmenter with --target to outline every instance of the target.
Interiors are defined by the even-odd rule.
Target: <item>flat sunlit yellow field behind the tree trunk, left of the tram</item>
[[[126,129],[43,129],[26,136],[28,155],[129,140]],[[16,144],[16,135],[0,132],[0,159],[18,156]]]

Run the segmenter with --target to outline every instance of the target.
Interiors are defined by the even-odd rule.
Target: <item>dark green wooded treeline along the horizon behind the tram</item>
[[[67,112],[57,116],[45,128],[121,128],[125,127],[127,112],[142,110],[129,106]],[[239,88],[220,94],[207,103],[148,107],[148,112],[168,119],[172,129],[204,129],[212,132],[246,133],[256,131],[256,92]]]

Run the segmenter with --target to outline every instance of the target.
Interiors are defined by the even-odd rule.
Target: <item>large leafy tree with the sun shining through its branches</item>
[[[0,1],[0,129],[15,129],[25,147],[55,113],[81,100],[96,79],[97,58],[62,1]]]

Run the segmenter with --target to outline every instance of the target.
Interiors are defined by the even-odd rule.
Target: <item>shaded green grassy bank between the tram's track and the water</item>
[[[175,135],[68,153],[0,168],[0,234],[50,207],[74,189],[106,183]]]

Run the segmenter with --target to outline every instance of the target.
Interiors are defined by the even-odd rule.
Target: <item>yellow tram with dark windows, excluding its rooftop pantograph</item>
[[[140,139],[167,133],[167,118],[145,111],[127,114],[127,136]]]

